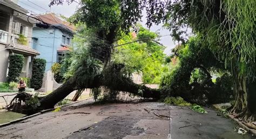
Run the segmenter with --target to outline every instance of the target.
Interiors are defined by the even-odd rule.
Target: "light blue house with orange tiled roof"
[[[46,60],[45,72],[47,72],[51,70],[53,63],[62,61],[65,52],[69,51],[75,26],[70,25],[55,13],[35,17],[42,19],[43,24],[50,25],[44,28],[33,27],[32,34],[33,48],[41,53],[38,58]]]

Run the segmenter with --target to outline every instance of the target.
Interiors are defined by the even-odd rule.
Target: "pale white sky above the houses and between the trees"
[[[17,1],[17,0],[14,0]],[[78,0],[76,0],[78,2]],[[18,5],[22,6],[23,8],[27,9],[29,12],[34,13],[34,14],[42,14],[45,12],[54,12],[57,15],[61,14],[64,15],[65,17],[70,17],[75,13],[78,3],[73,2],[70,5],[64,2],[63,5],[54,5],[51,6],[51,8],[48,6],[50,0],[18,0]],[[146,16],[146,12],[143,11],[143,14]],[[143,16],[142,24],[144,27],[146,27],[146,17]],[[160,36],[160,43],[163,44],[166,48],[164,53],[170,54],[171,49],[174,48],[176,44],[174,44],[174,41],[170,36],[165,36],[167,34],[170,34],[169,30],[166,30],[162,27],[163,24],[159,25],[152,25],[150,28],[151,31],[153,32],[158,32]]]

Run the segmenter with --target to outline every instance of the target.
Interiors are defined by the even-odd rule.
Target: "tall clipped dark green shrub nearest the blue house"
[[[37,90],[42,87],[45,65],[46,65],[45,59],[40,59],[40,58],[33,59],[31,88],[35,88]]]

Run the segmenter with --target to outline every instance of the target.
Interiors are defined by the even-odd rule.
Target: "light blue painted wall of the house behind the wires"
[[[52,33],[53,31],[53,33]],[[55,33],[54,33],[55,32]],[[65,32],[64,32],[65,33]],[[58,62],[57,50],[62,45],[63,32],[59,29],[42,29],[35,27],[33,28],[33,49],[37,50],[41,54],[38,58],[43,58],[46,60],[45,72],[51,70],[53,63]],[[55,36],[55,37],[53,37]],[[53,45],[54,41],[54,45]]]

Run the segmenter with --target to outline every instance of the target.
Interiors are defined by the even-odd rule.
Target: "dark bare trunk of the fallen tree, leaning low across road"
[[[143,98],[154,98],[158,99],[160,97],[160,93],[157,89],[151,89],[146,86],[141,86],[138,84],[134,84],[127,78],[122,77],[122,79],[117,79],[116,81],[118,84],[116,86],[111,86],[112,82],[106,83],[100,79],[102,79],[102,75],[97,75],[92,81],[90,85],[84,85],[82,87],[76,87],[76,75],[66,81],[62,86],[57,88],[55,91],[50,93],[49,95],[44,96],[41,99],[40,103],[41,106],[39,109],[49,109],[53,108],[60,100],[63,100],[66,96],[68,96],[72,91],[77,89],[84,89],[84,88],[97,88],[99,86],[106,86],[112,90],[122,91],[122,92],[130,92],[133,95],[141,96]]]

